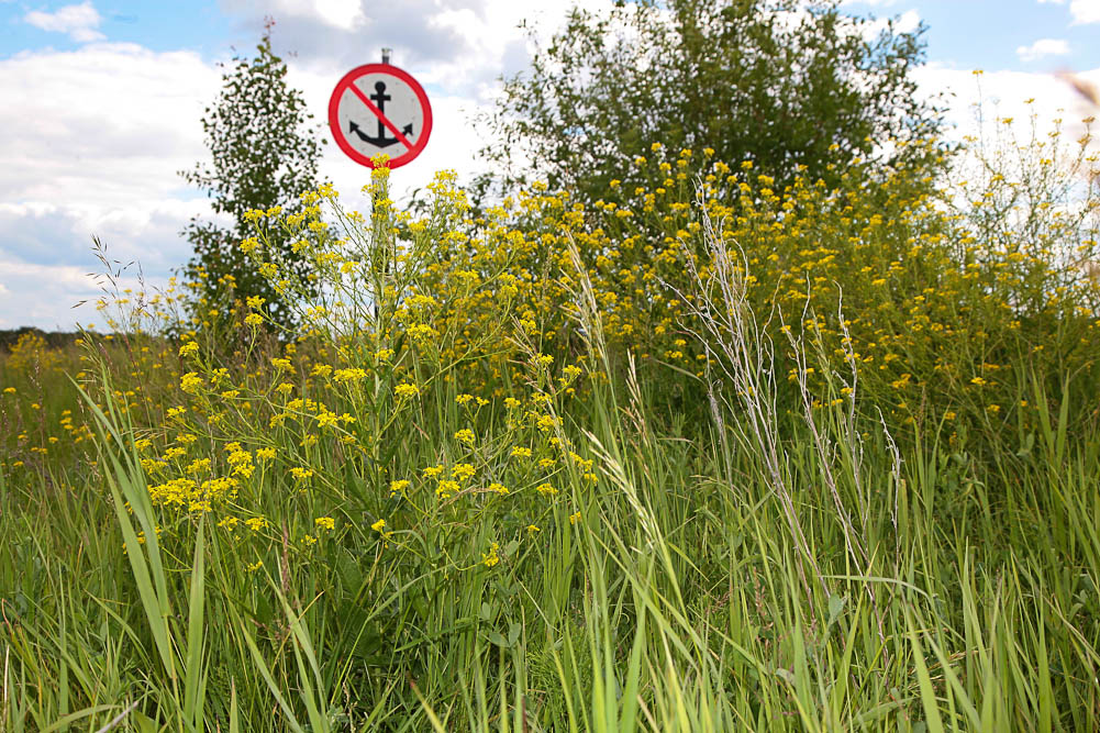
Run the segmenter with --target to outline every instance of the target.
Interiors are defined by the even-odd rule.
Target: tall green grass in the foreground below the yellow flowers
[[[899,466],[880,430],[857,462],[843,408],[685,426],[646,393],[563,415],[602,467],[571,482],[581,523],[416,577],[364,537],[250,575],[206,521],[166,557],[97,408],[100,484],[3,495],[4,730],[1097,727],[1091,437],[1047,415],[994,497],[934,436]]]

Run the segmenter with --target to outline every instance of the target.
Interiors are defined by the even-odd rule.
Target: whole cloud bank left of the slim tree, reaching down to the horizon
[[[70,328],[88,292],[73,273],[101,269],[94,234],[153,280],[186,262],[178,232],[209,203],[176,172],[206,154],[218,87],[197,54],[131,44],[0,59],[0,321]]]

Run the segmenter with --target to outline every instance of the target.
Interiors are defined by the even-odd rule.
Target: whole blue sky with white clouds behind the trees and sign
[[[89,276],[103,269],[94,237],[109,259],[136,263],[124,286],[136,286],[139,266],[157,287],[186,263],[180,230],[211,216],[178,172],[208,156],[200,120],[220,91],[219,63],[251,54],[266,17],[317,120],[343,74],[378,62],[383,46],[424,85],[435,125],[422,154],[393,173],[402,192],[440,169],[484,169],[477,113],[493,108],[502,76],[527,66],[534,46],[521,24],[549,37],[574,1],[0,0],[0,329],[102,328],[94,306],[74,307],[100,294]],[[945,95],[954,135],[972,127],[979,96],[1018,119],[1034,98],[1034,109],[1071,127],[1084,108],[1054,73],[1100,84],[1100,0],[843,6],[901,30],[927,26],[926,63],[913,73],[921,94]],[[365,167],[328,144],[320,173],[356,207]]]

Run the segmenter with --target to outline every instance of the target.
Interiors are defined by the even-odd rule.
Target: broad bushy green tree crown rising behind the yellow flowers
[[[641,0],[603,17],[574,9],[530,68],[506,81],[483,152],[508,172],[497,183],[534,172],[590,200],[628,180],[653,142],[752,161],[779,190],[800,166],[832,183],[856,156],[872,171],[914,155],[931,162],[905,144],[941,128],[910,74],[925,29],[899,33],[889,22],[868,39],[870,22],[835,0]]]

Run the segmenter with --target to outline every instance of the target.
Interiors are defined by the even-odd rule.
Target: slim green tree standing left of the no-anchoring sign
[[[268,21],[254,58],[234,56],[235,65],[222,74],[217,102],[202,117],[202,131],[211,162],[197,164],[180,175],[207,190],[218,214],[232,218],[231,227],[191,219],[184,236],[194,256],[184,269],[200,283],[193,304],[196,315],[208,318],[229,298],[263,298],[273,322],[292,328],[293,316],[283,296],[271,286],[240,248],[253,234],[245,214],[280,207],[284,215],[302,208],[300,196],[318,186],[319,140],[301,92],[286,81],[286,63],[272,52]],[[294,251],[289,236],[273,228],[264,244],[264,259],[287,263],[288,277],[309,283],[308,263]]]

